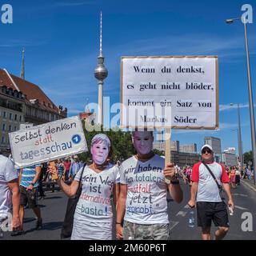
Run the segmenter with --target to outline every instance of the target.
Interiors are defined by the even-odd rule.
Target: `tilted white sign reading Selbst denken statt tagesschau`
[[[10,133],[9,138],[14,162],[18,167],[87,151],[78,116],[18,130]]]

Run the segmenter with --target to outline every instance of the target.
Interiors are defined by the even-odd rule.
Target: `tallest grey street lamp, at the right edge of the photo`
[[[241,20],[244,24],[245,30],[245,42],[246,42],[246,64],[247,64],[247,78],[248,78],[248,90],[249,90],[249,106],[250,106],[250,134],[251,134],[251,144],[253,151],[253,162],[254,162],[254,186],[256,185],[255,179],[255,167],[256,167],[256,142],[255,142],[255,121],[254,121],[254,100],[253,100],[253,91],[251,86],[250,79],[250,58],[249,58],[249,49],[248,49],[248,40],[247,40],[247,30],[246,30],[246,19],[245,18],[229,18],[226,19],[226,23],[231,24],[235,20]]]

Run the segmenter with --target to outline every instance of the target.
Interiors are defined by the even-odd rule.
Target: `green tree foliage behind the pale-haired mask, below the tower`
[[[110,162],[116,163],[118,160],[119,161],[124,161],[127,158],[130,158],[133,154],[136,153],[134,150],[134,146],[132,144],[131,140],[131,133],[130,132],[123,132],[122,130],[119,130],[117,128],[113,128],[108,131],[104,131],[101,127],[101,131],[95,131],[92,129],[92,126],[85,126],[85,122],[83,123],[84,127],[84,133],[86,136],[86,142],[88,146],[87,152],[84,152],[82,154],[79,154],[79,159],[81,159],[84,162],[91,162],[91,154],[90,154],[90,145],[91,145],[91,140],[96,134],[106,134],[110,138],[111,142],[111,155],[110,155]],[[99,127],[98,127],[99,128]],[[91,131],[88,131],[91,130]],[[97,129],[99,130],[99,129]]]

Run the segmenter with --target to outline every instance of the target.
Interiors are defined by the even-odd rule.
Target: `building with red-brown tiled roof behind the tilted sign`
[[[10,148],[9,133],[20,124],[39,125],[67,117],[67,109],[54,102],[34,83],[0,69],[0,149]]]

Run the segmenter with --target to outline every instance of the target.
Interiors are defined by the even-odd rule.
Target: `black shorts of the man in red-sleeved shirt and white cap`
[[[230,226],[225,202],[197,202],[197,213],[202,228],[210,227],[211,221],[215,226]]]

